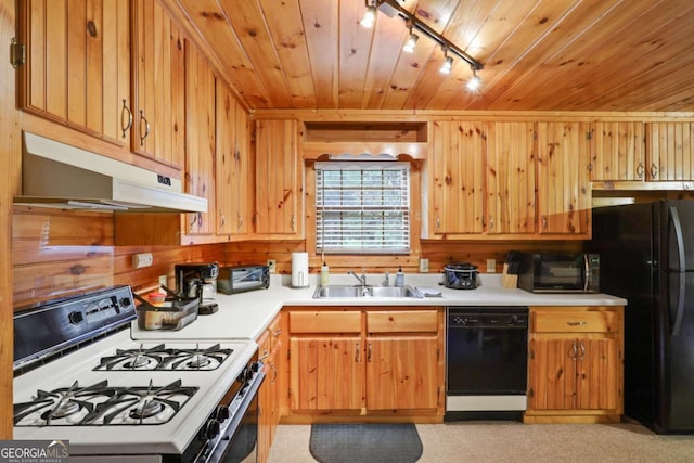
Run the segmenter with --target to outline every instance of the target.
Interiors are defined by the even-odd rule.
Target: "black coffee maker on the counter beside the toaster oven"
[[[197,297],[201,316],[215,313],[219,307],[215,301],[217,294],[217,276],[219,266],[211,263],[177,263],[174,267],[176,275],[176,293],[179,297]]]

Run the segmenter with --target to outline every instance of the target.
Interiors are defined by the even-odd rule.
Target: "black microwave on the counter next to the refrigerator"
[[[600,255],[518,253],[518,287],[531,293],[600,293]]]

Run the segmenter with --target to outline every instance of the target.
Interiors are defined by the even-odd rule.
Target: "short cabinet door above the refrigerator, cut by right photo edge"
[[[646,179],[694,180],[694,124],[646,123]]]

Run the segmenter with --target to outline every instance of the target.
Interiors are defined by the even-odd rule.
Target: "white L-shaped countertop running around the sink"
[[[285,306],[626,306],[627,300],[607,294],[534,294],[501,286],[500,274],[480,274],[475,290],[440,286],[440,273],[407,274],[406,284],[437,288],[441,297],[420,298],[334,298],[313,299],[318,275],[310,275],[307,288],[290,287],[291,275],[271,275],[268,290],[226,295],[217,293],[219,310],[198,316],[180,331],[144,331],[132,322],[133,339],[256,339]],[[383,274],[368,274],[367,282],[383,284]],[[395,275],[390,275],[391,283]],[[348,274],[331,274],[331,284],[356,284]]]

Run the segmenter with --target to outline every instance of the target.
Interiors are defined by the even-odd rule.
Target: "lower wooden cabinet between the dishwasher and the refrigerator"
[[[530,309],[526,423],[619,422],[624,308]]]

